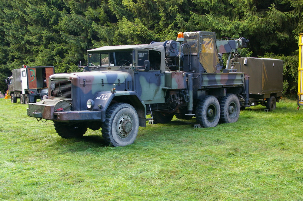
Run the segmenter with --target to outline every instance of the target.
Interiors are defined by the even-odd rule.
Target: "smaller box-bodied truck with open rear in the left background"
[[[42,100],[48,94],[49,76],[54,73],[54,66],[23,66],[12,70],[12,76],[6,80],[12,103],[16,103],[17,98],[21,104]]]

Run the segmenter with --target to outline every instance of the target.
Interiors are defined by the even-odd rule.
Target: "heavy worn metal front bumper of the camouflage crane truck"
[[[54,105],[29,103],[27,115],[35,118],[43,118],[52,121],[102,121],[101,112],[98,111],[65,111],[55,112]]]

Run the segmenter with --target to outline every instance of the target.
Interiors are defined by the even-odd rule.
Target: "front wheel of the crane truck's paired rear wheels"
[[[220,104],[215,96],[205,96],[196,107],[196,120],[204,128],[215,127],[220,119]]]

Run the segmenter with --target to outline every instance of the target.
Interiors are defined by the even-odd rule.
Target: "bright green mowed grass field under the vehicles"
[[[63,139],[27,105],[0,104],[0,200],[303,200],[296,101],[215,128],[147,125],[126,147],[104,146],[101,130]]]

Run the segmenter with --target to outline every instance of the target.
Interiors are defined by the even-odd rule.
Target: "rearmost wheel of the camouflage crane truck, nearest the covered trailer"
[[[227,94],[220,101],[220,122],[234,123],[240,115],[240,102],[234,94]]]

